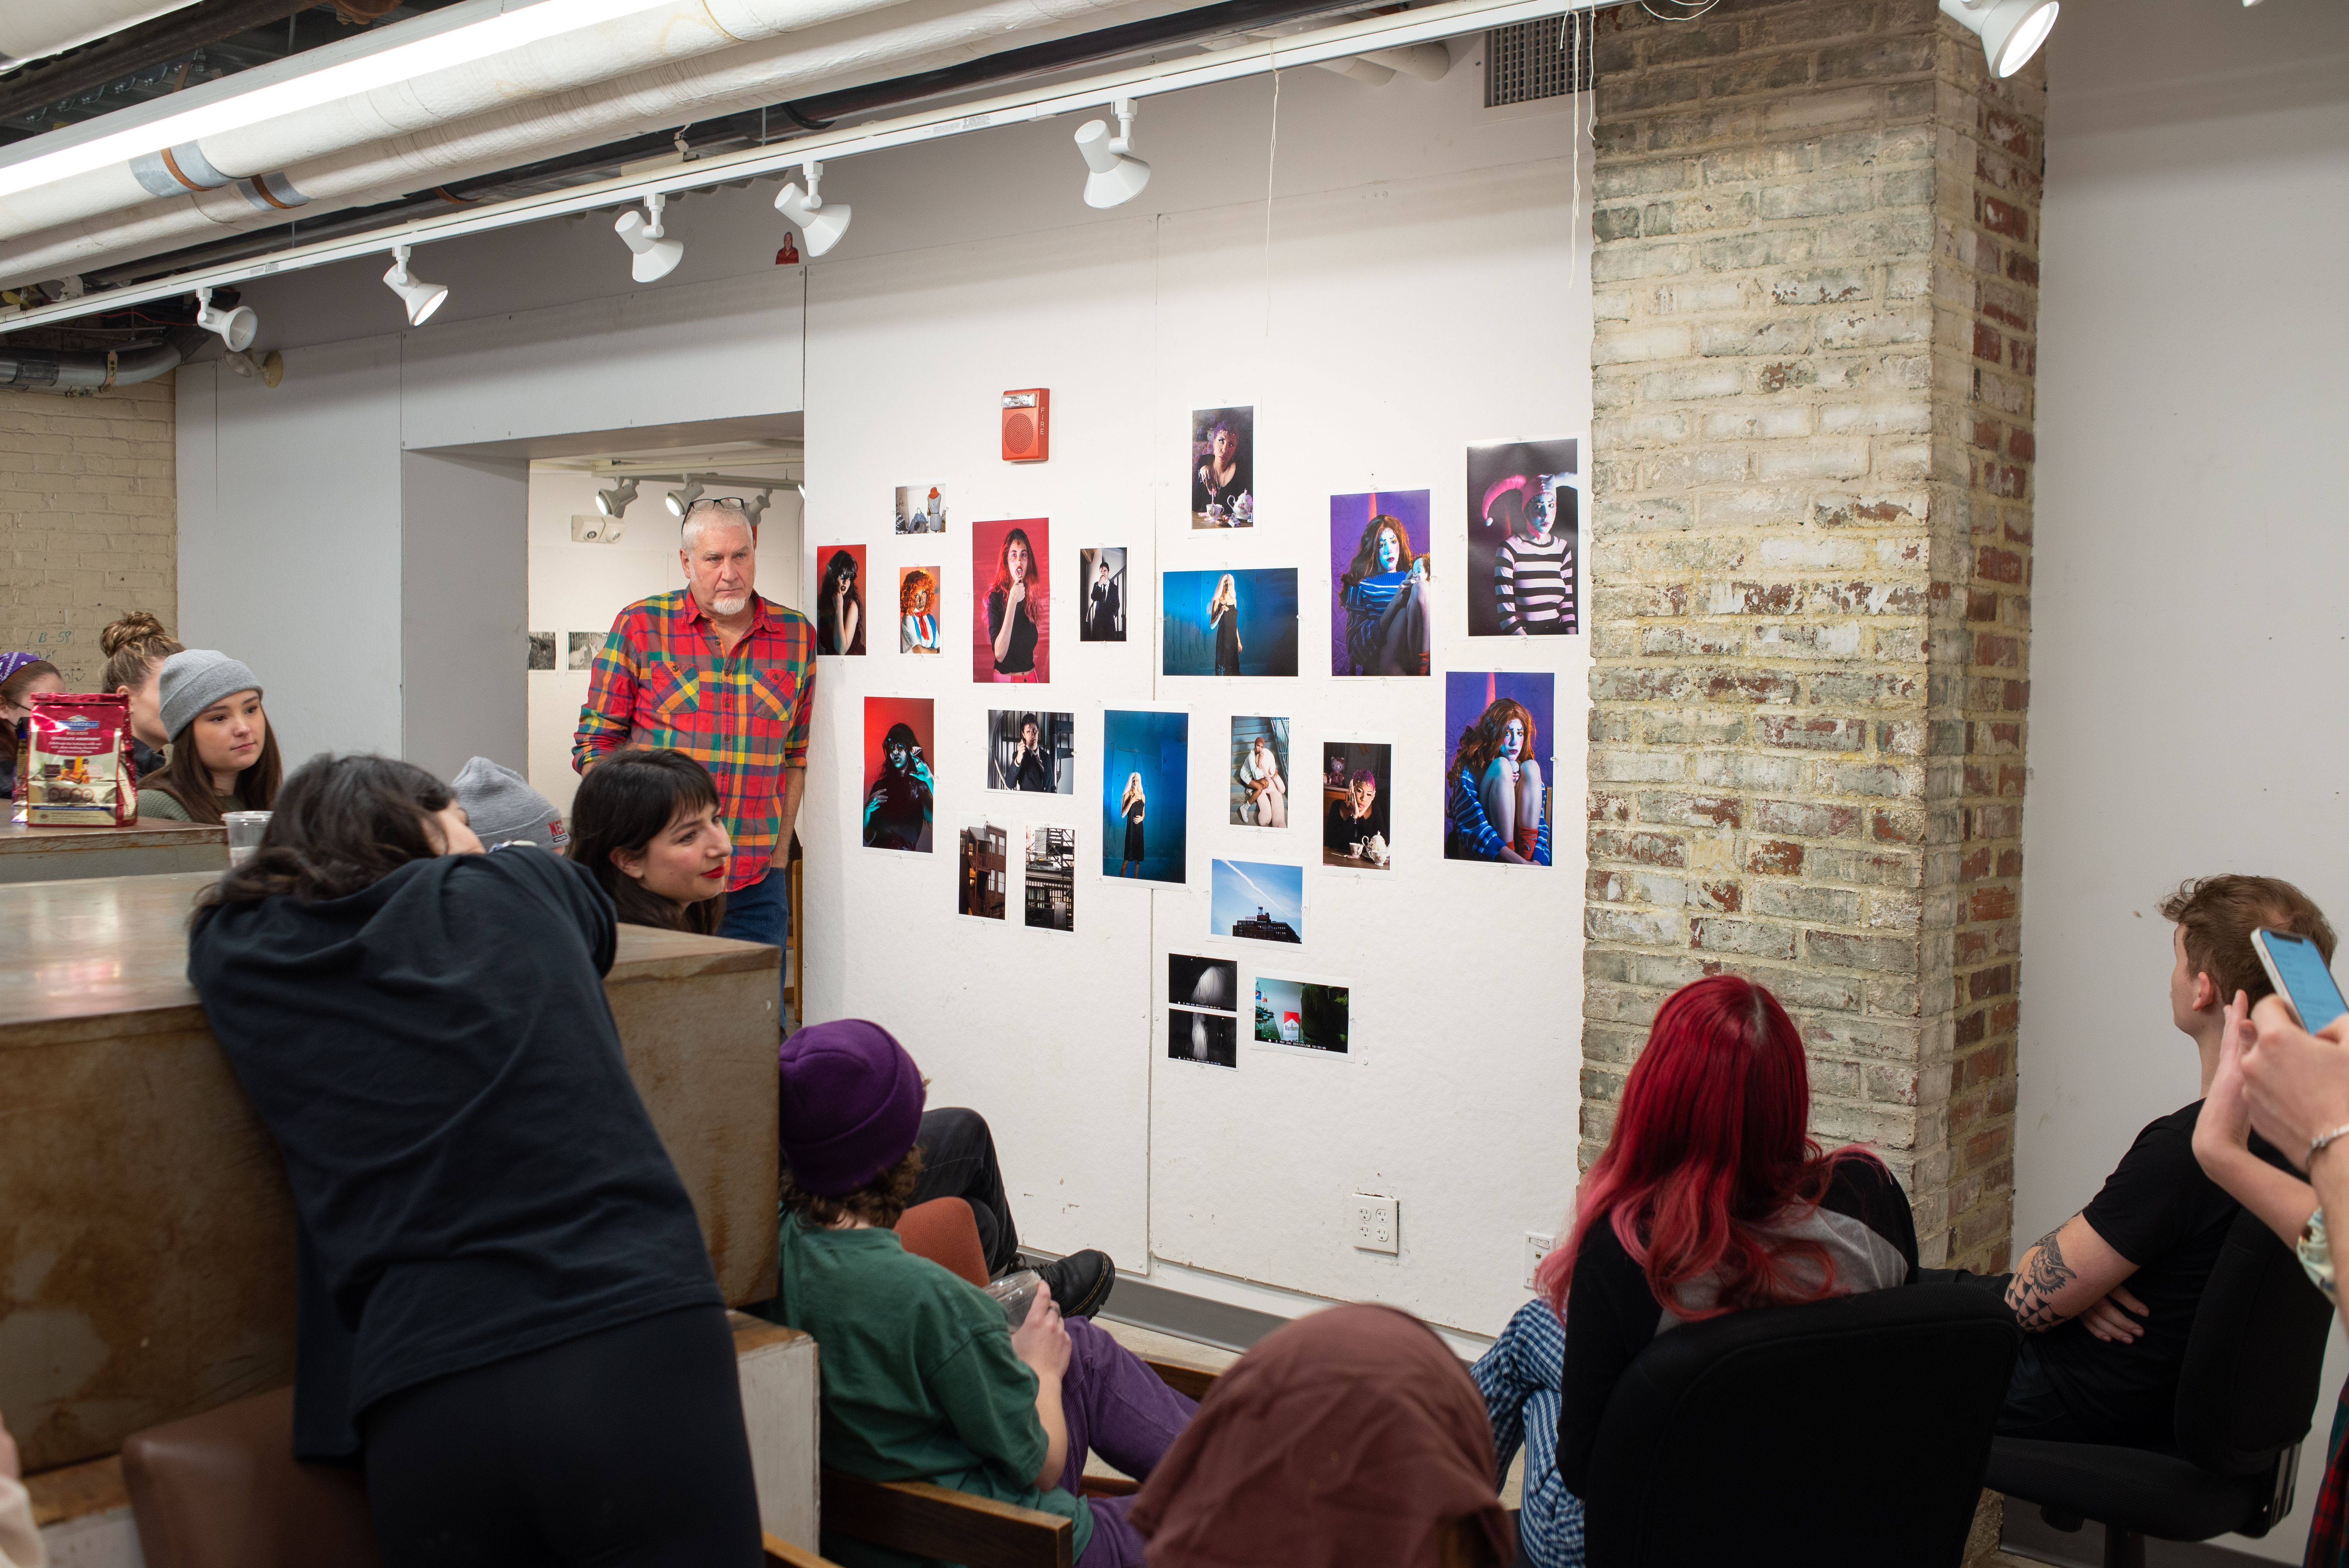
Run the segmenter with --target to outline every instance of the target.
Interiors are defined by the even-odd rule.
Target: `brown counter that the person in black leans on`
[[[294,1376],[284,1169],[186,981],[211,880],[0,885],[0,1411],[26,1469]],[[622,925],[604,981],[731,1305],[775,1293],[778,958]]]

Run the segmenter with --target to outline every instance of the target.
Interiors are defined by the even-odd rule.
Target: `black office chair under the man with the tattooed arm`
[[[2267,1535],[2293,1509],[2330,1324],[2333,1307],[2300,1261],[2243,1211],[2194,1310],[2178,1373],[2178,1448],[2001,1437],[1990,1486],[2041,1505],[2058,1530],[2100,1521],[2105,1568],[2145,1568],[2147,1535]]]

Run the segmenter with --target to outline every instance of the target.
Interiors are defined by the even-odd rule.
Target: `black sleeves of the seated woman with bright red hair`
[[[1818,1211],[1790,1228],[1828,1249],[1835,1291],[1882,1291],[1917,1279],[1917,1221],[1907,1192],[1872,1155],[1835,1164]],[[1703,1284],[1684,1286],[1689,1305],[1710,1305]],[[1623,1249],[1614,1225],[1593,1225],[1574,1256],[1567,1289],[1567,1376],[1557,1411],[1557,1474],[1576,1498],[1590,1481],[1590,1451],[1614,1385],[1647,1343],[1682,1319],[1647,1289],[1647,1270]]]

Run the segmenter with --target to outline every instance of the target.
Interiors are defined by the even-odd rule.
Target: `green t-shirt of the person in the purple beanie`
[[[1064,1514],[1076,1521],[1069,1552],[1083,1556],[1092,1509],[1057,1486],[1036,1491],[1050,1439],[1003,1307],[909,1253],[895,1230],[813,1230],[787,1214],[780,1249],[768,1317],[815,1336],[824,1462]],[[822,1554],[848,1568],[921,1561],[829,1530]]]

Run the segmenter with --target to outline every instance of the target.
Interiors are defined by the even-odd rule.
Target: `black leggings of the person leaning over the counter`
[[[684,1307],[378,1399],[383,1568],[761,1568],[723,1307]]]

